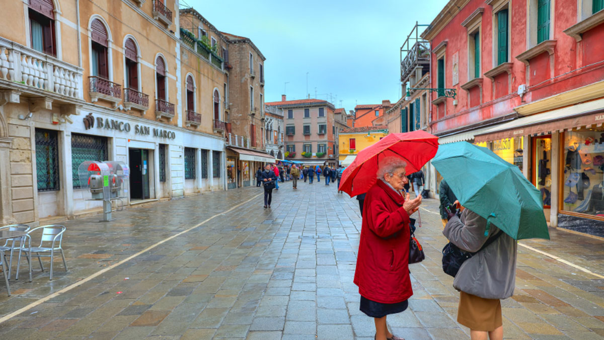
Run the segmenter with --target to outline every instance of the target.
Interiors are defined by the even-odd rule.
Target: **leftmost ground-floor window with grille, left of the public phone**
[[[59,190],[59,138],[56,131],[36,129],[36,177],[37,191]]]

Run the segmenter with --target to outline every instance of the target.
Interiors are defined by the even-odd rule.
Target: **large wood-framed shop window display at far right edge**
[[[564,134],[564,211],[604,217],[604,131]]]

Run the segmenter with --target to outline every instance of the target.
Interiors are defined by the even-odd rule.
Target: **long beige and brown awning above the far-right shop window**
[[[604,123],[604,99],[599,99],[501,124],[480,135],[477,134],[474,141],[485,142],[519,136],[542,135],[579,127],[602,126],[602,123]]]

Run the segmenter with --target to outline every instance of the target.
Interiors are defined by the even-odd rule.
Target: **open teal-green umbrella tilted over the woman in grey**
[[[432,165],[460,204],[498,226],[515,240],[550,239],[541,192],[516,165],[486,147],[467,142],[439,146]]]

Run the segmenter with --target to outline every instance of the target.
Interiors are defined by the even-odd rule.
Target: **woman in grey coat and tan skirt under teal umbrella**
[[[469,209],[461,217],[450,215],[443,234],[461,250],[476,252],[500,229]],[[500,299],[509,298],[516,283],[516,249],[512,237],[501,233],[486,248],[464,261],[453,281],[460,291],[457,322],[470,329],[472,340],[503,339]]]

